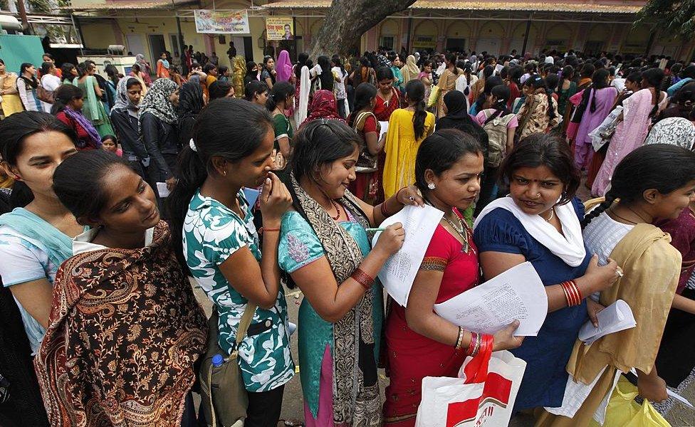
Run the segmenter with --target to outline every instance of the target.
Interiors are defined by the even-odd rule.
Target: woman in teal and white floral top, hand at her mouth
[[[167,198],[179,260],[214,305],[216,328],[209,333],[220,354],[239,351],[247,427],[276,426],[285,384],[295,374],[278,269],[280,221],[291,197],[270,172],[273,141],[273,122],[263,108],[235,98],[211,102],[179,156],[179,182]],[[262,245],[242,191],[258,186]],[[253,320],[237,348],[246,310],[254,310]]]

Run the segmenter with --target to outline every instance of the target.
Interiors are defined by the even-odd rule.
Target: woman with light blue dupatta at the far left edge
[[[31,199],[0,216],[0,275],[18,302],[32,353],[48,327],[58,266],[73,255],[70,239],[85,231],[51,187],[53,171],[77,152],[75,140],[47,112],[19,112],[0,122],[3,167]]]

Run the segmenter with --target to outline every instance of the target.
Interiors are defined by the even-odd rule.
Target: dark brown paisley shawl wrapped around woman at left
[[[169,228],[66,260],[34,359],[53,427],[179,427],[207,324]]]

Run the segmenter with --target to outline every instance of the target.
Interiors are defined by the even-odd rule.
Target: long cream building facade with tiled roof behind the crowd
[[[491,54],[516,50],[538,53],[543,48],[588,53],[600,51],[656,54],[691,60],[694,41],[683,42],[644,25],[633,26],[644,1],[567,0],[446,1],[418,0],[407,11],[394,14],[362,36],[361,50],[379,46],[400,51],[470,49]],[[291,16],[296,51],[308,51],[318,34],[330,0],[73,0],[70,11],[78,19],[86,48],[123,45],[152,60],[160,51],[180,52],[184,44],[207,55],[216,52],[228,65],[226,49],[234,41],[239,54],[261,60],[267,46],[266,16]],[[194,9],[249,11],[249,34],[197,33]]]

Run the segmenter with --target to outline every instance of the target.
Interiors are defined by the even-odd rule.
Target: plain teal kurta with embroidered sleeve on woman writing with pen
[[[348,211],[348,215],[350,215]],[[367,256],[371,249],[370,239],[365,228],[355,220],[344,221],[340,226],[355,238],[362,255]],[[313,263],[323,256],[323,246],[318,240],[309,223],[296,211],[286,212],[281,221],[280,245],[278,246],[278,263],[280,268],[287,273]],[[379,344],[381,327],[384,322],[383,290],[378,280],[372,286],[374,297],[374,343],[375,360],[379,358]],[[333,323],[323,320],[311,307],[309,301],[304,298],[299,307],[298,347],[299,365],[302,367],[299,375],[302,381],[304,401],[308,405],[313,416],[318,413],[319,382],[321,376],[321,363],[325,347],[330,347],[333,357]],[[338,363],[340,363],[338,361]]]

